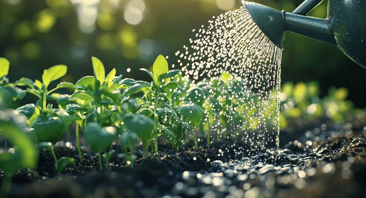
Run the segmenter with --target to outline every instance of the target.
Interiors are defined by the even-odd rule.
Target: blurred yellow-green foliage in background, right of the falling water
[[[328,95],[321,98],[319,83],[316,81],[284,83],[280,93],[280,126],[286,127],[292,118],[313,120],[326,117],[334,122],[344,122],[348,115],[364,114],[347,97],[348,90],[344,87],[331,87]]]

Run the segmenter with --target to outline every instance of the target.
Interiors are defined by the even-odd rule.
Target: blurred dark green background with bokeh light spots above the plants
[[[300,0],[254,0],[292,11]],[[326,16],[326,1],[309,15]],[[107,72],[143,80],[158,54],[175,63],[175,52],[194,37],[192,29],[212,16],[241,6],[239,0],[0,0],[0,57],[11,62],[11,82],[40,79],[56,64],[68,66],[64,81],[92,75],[91,56]],[[332,45],[293,33],[285,36],[282,82],[313,81],[321,96],[330,87],[346,87],[348,99],[365,107],[366,69]],[[127,72],[129,71],[129,72]]]

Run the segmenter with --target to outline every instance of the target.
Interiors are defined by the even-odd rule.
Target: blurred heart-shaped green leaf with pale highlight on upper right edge
[[[94,153],[107,149],[117,137],[115,127],[101,127],[96,122],[87,123],[84,130],[85,141]]]

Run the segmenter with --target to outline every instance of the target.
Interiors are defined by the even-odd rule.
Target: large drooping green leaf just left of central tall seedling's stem
[[[123,117],[124,124],[131,132],[135,132],[146,146],[152,138],[154,121],[140,114],[128,114]]]

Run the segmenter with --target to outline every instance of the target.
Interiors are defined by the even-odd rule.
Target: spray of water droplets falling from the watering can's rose
[[[187,89],[206,91],[210,138],[243,138],[248,155],[278,149],[281,49],[244,7],[193,31],[195,38],[176,52],[173,67],[182,68]]]

